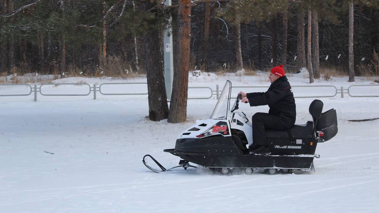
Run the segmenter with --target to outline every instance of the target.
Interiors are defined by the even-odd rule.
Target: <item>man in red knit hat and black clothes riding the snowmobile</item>
[[[249,147],[255,154],[270,154],[266,141],[265,129],[287,130],[295,124],[296,104],[291,85],[283,65],[271,69],[271,85],[266,92],[239,92],[241,102],[250,103],[251,107],[268,105],[268,113],[255,113],[252,117],[253,144]]]

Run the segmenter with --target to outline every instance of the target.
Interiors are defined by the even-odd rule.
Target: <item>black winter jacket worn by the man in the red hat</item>
[[[246,94],[250,106],[268,105],[269,114],[278,115],[284,125],[293,126],[296,121],[296,104],[290,82],[286,76],[271,83],[267,92],[252,92]]]

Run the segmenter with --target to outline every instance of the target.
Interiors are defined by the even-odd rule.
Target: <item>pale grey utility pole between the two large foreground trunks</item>
[[[171,0],[164,0],[165,6],[171,6]],[[171,25],[171,17],[169,20]],[[171,100],[172,81],[174,79],[174,58],[172,48],[172,28],[169,27],[164,31],[164,84],[166,85],[167,99]]]

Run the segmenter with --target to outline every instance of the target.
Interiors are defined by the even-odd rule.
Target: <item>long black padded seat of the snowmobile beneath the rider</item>
[[[312,138],[313,122],[308,121],[303,125],[294,125],[288,130],[266,130],[266,138]]]

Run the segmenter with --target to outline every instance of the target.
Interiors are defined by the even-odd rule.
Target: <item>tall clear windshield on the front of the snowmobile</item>
[[[230,81],[226,81],[224,89],[222,89],[216,107],[210,117],[211,119],[226,120],[227,113],[229,111],[229,97],[231,89],[232,83]]]

